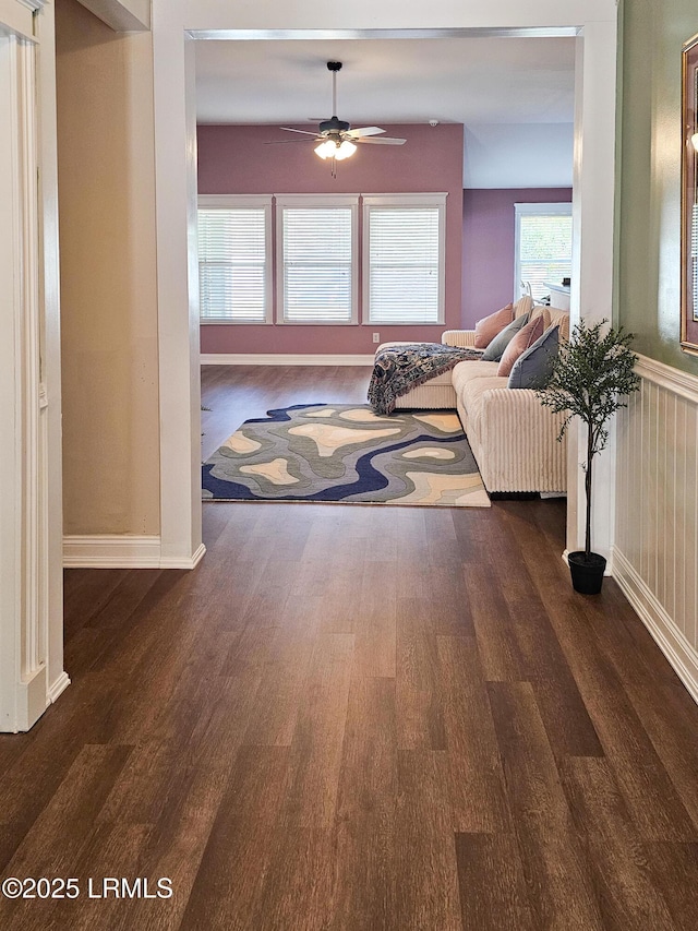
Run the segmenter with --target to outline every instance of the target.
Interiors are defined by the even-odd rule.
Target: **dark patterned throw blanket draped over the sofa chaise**
[[[459,349],[443,343],[410,343],[376,354],[369,403],[376,414],[392,414],[395,401],[417,385],[447,372],[464,359],[479,359],[477,349]]]

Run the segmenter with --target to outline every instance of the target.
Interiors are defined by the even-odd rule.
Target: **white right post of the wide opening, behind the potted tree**
[[[612,320],[615,166],[615,21],[588,23],[577,38],[573,181],[571,324]],[[583,549],[586,498],[581,463],[586,430],[568,435],[567,551]],[[593,462],[591,544],[612,571],[615,516],[615,423],[606,450]]]

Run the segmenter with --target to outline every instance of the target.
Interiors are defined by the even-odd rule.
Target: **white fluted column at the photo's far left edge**
[[[69,683],[62,669],[52,37],[53,10],[45,0],[0,0],[0,730],[3,731],[28,730]],[[47,139],[51,132],[53,139]]]

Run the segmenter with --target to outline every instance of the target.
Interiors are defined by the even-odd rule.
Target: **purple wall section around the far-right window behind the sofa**
[[[505,307],[514,296],[514,204],[568,203],[571,188],[462,192],[462,325]]]

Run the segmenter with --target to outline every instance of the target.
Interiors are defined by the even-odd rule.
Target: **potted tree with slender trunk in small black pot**
[[[558,440],[565,434],[573,417],[587,427],[585,491],[587,522],[585,549],[567,556],[571,583],[576,592],[595,595],[601,590],[606,566],[604,557],[591,550],[591,489],[593,457],[605,449],[609,439],[606,423],[621,407],[627,406],[627,395],[640,384],[635,373],[637,356],[629,348],[631,333],[614,330],[602,320],[593,326],[578,323],[568,343],[561,345],[547,385],[537,392],[545,407],[567,414]]]

